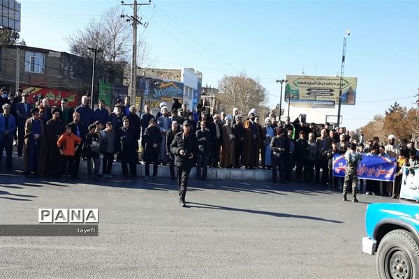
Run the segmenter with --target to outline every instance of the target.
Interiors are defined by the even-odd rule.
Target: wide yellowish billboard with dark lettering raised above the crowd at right
[[[293,100],[325,100],[339,103],[340,77],[313,75],[287,75],[285,99],[293,95]],[[342,78],[342,105],[355,105],[357,77]]]

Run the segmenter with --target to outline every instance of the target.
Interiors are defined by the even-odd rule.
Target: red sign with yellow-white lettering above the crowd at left
[[[51,106],[61,106],[61,99],[67,99],[70,107],[79,105],[79,93],[77,91],[66,91],[61,89],[51,89],[33,86],[22,86],[24,93],[29,93],[29,103],[36,103],[37,100],[47,98]]]

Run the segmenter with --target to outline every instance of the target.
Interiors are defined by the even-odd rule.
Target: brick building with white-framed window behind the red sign
[[[91,65],[80,56],[26,45],[0,45],[0,87],[22,87],[32,97],[78,103],[91,89]],[[29,98],[31,100],[31,98]]]

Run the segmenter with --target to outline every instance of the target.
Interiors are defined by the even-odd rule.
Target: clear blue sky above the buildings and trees
[[[132,1],[125,1],[131,3]],[[140,2],[140,1],[139,1]],[[22,0],[21,37],[28,45],[68,51],[64,38],[117,0]],[[154,6],[155,4],[155,6]],[[127,13],[132,13],[126,7]],[[412,107],[419,87],[419,1],[163,1],[142,6],[139,34],[156,67],[191,67],[203,85],[223,74],[259,77],[268,105],[279,103],[277,79],[339,75],[345,29],[345,76],[358,77],[355,106],[343,106],[353,129],[396,100]],[[415,105],[416,106],[416,105]]]

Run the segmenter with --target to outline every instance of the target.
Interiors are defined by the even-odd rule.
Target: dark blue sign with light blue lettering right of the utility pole
[[[173,98],[178,98],[182,103],[184,84],[182,82],[164,81],[142,77],[137,88],[144,94],[143,105],[159,107],[161,102],[169,103]],[[170,107],[169,107],[170,109]]]

